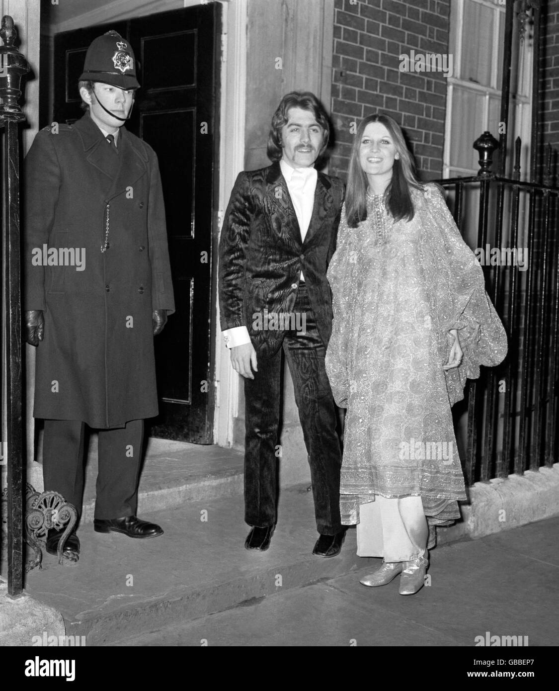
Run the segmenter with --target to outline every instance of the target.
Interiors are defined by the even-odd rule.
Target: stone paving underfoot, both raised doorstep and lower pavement
[[[398,579],[359,584],[358,569],[380,560],[355,555],[354,529],[339,557],[312,556],[306,489],[283,491],[265,553],[243,547],[242,496],[209,498],[143,513],[164,528],[153,540],[84,524],[79,563],[59,567],[46,555],[48,568],[28,575],[26,591],[59,610],[66,634],[86,645],[474,645],[486,631],[558,643],[559,516],[435,549],[430,587],[402,597]]]

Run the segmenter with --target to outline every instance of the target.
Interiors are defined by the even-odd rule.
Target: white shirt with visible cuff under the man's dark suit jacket
[[[292,168],[283,159],[280,161],[281,174],[287,183],[287,191],[295,209],[299,230],[301,231],[301,243],[305,242],[305,236],[309,229],[312,209],[314,208],[314,191],[318,173],[314,167]],[[301,281],[305,276],[301,271]],[[222,332],[227,348],[235,348],[236,345],[250,343],[249,330],[246,326],[234,326]]]

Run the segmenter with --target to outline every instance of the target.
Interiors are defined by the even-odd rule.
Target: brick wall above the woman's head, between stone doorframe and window
[[[330,173],[345,180],[352,121],[372,113],[404,128],[422,179],[442,176],[446,77],[401,72],[400,55],[448,53],[450,0],[335,0]]]

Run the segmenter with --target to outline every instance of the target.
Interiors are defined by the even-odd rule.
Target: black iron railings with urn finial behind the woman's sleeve
[[[527,266],[506,265],[502,255],[495,265],[484,265],[509,353],[504,363],[482,368],[480,379],[468,384],[468,485],[551,466],[557,458],[559,189],[553,186],[555,155],[549,145],[542,182],[520,180],[521,144],[518,138],[512,178],[491,171],[499,142],[486,132],[474,144],[480,152],[477,176],[438,181],[454,193],[454,217],[462,231],[464,200],[479,190],[478,248],[505,249],[507,261],[513,249],[527,249]]]

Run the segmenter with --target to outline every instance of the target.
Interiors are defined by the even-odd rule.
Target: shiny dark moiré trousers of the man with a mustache
[[[283,351],[309,456],[316,529],[323,535],[334,535],[341,530],[337,414],[324,367],[326,349],[304,284],[299,286],[293,311],[306,314],[306,334],[287,331]],[[245,521],[252,526],[276,523],[280,399],[278,350],[272,357],[258,357],[254,379],[245,379]]]

